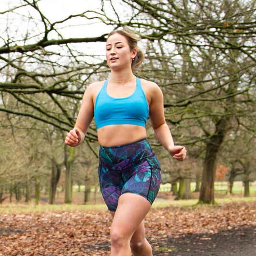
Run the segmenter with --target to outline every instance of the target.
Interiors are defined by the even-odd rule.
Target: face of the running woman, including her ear
[[[131,51],[127,39],[119,33],[111,35],[106,43],[106,59],[111,70],[132,67],[136,50]]]

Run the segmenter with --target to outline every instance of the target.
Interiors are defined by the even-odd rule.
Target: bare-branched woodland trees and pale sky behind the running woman
[[[176,199],[214,203],[216,180],[256,178],[255,0],[1,0],[0,202],[47,196],[55,203],[73,186],[98,188],[98,144],[93,122],[85,143],[65,146],[85,88],[109,77],[105,40],[128,27],[142,39],[145,61],[136,75],[164,94],[166,121],[176,144],[172,160],[147,123]],[[179,183],[179,187],[177,186]],[[83,187],[82,187],[83,185]],[[15,195],[15,199],[13,199]],[[7,199],[8,198],[8,199]]]

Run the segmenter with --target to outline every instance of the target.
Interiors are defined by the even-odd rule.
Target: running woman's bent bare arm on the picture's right
[[[173,158],[183,161],[186,157],[186,148],[184,146],[174,145],[171,131],[165,121],[163,94],[159,86],[155,83],[151,83],[150,85],[149,118],[160,144]]]

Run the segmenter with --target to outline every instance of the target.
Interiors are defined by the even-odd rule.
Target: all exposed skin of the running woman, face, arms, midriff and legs
[[[106,59],[111,69],[107,93],[113,98],[124,98],[133,94],[136,78],[131,64],[137,50],[130,49],[126,37],[119,33],[111,35],[106,43]],[[126,81],[124,83],[114,81]],[[65,143],[78,146],[94,117],[95,100],[104,81],[87,87],[74,128],[67,134]],[[171,131],[165,122],[163,95],[154,82],[141,79],[146,95],[149,118],[154,133],[171,157],[183,161],[186,157],[184,146],[175,146]],[[146,128],[131,124],[107,125],[98,129],[98,142],[101,146],[117,146],[146,138]],[[139,207],[138,207],[139,206]],[[110,230],[111,256],[152,256],[152,249],[145,237],[143,220],[151,205],[144,197],[131,193],[120,196]]]

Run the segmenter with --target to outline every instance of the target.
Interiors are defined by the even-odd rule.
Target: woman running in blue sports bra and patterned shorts
[[[110,78],[86,88],[75,126],[65,139],[69,146],[81,144],[95,117],[100,188],[113,216],[111,256],[152,256],[143,219],[158,193],[161,173],[146,140],[148,116],[157,139],[170,155],[180,161],[186,156],[184,146],[174,146],[160,88],[133,74],[144,60],[138,40],[128,29],[109,34],[106,58]]]

